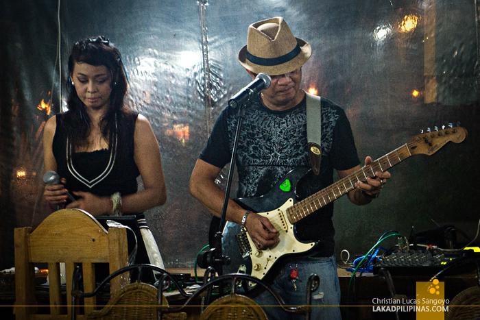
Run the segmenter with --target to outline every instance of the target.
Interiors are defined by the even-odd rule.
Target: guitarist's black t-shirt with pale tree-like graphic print
[[[265,195],[280,179],[297,167],[311,168],[307,151],[306,99],[284,111],[266,108],[261,99],[245,107],[239,134],[235,166],[238,171],[237,197]],[[223,168],[230,162],[238,109],[227,107],[219,115],[206,147],[199,158]],[[355,141],[350,123],[342,108],[322,98],[322,162],[320,174],[309,177],[311,195],[333,184],[333,170],[357,166]],[[324,206],[296,223],[300,240],[322,240],[324,247],[317,256],[331,256],[335,230],[332,223],[333,203]]]

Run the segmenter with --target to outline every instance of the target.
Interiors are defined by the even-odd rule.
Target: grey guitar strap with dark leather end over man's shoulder
[[[307,149],[313,173],[318,175],[322,160],[322,98],[310,93],[305,94],[307,95]]]

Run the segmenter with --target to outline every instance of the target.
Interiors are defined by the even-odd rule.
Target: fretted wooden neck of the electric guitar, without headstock
[[[387,171],[394,167],[395,164],[412,156],[409,143],[387,153],[385,156],[375,160],[371,164],[366,165],[358,171],[344,177],[317,193],[298,201],[287,209],[287,219],[290,223],[296,223],[307,217],[316,210],[330,204],[339,197],[346,195],[349,191],[355,189],[355,183],[361,181],[366,182],[367,177],[374,177],[376,171]]]

